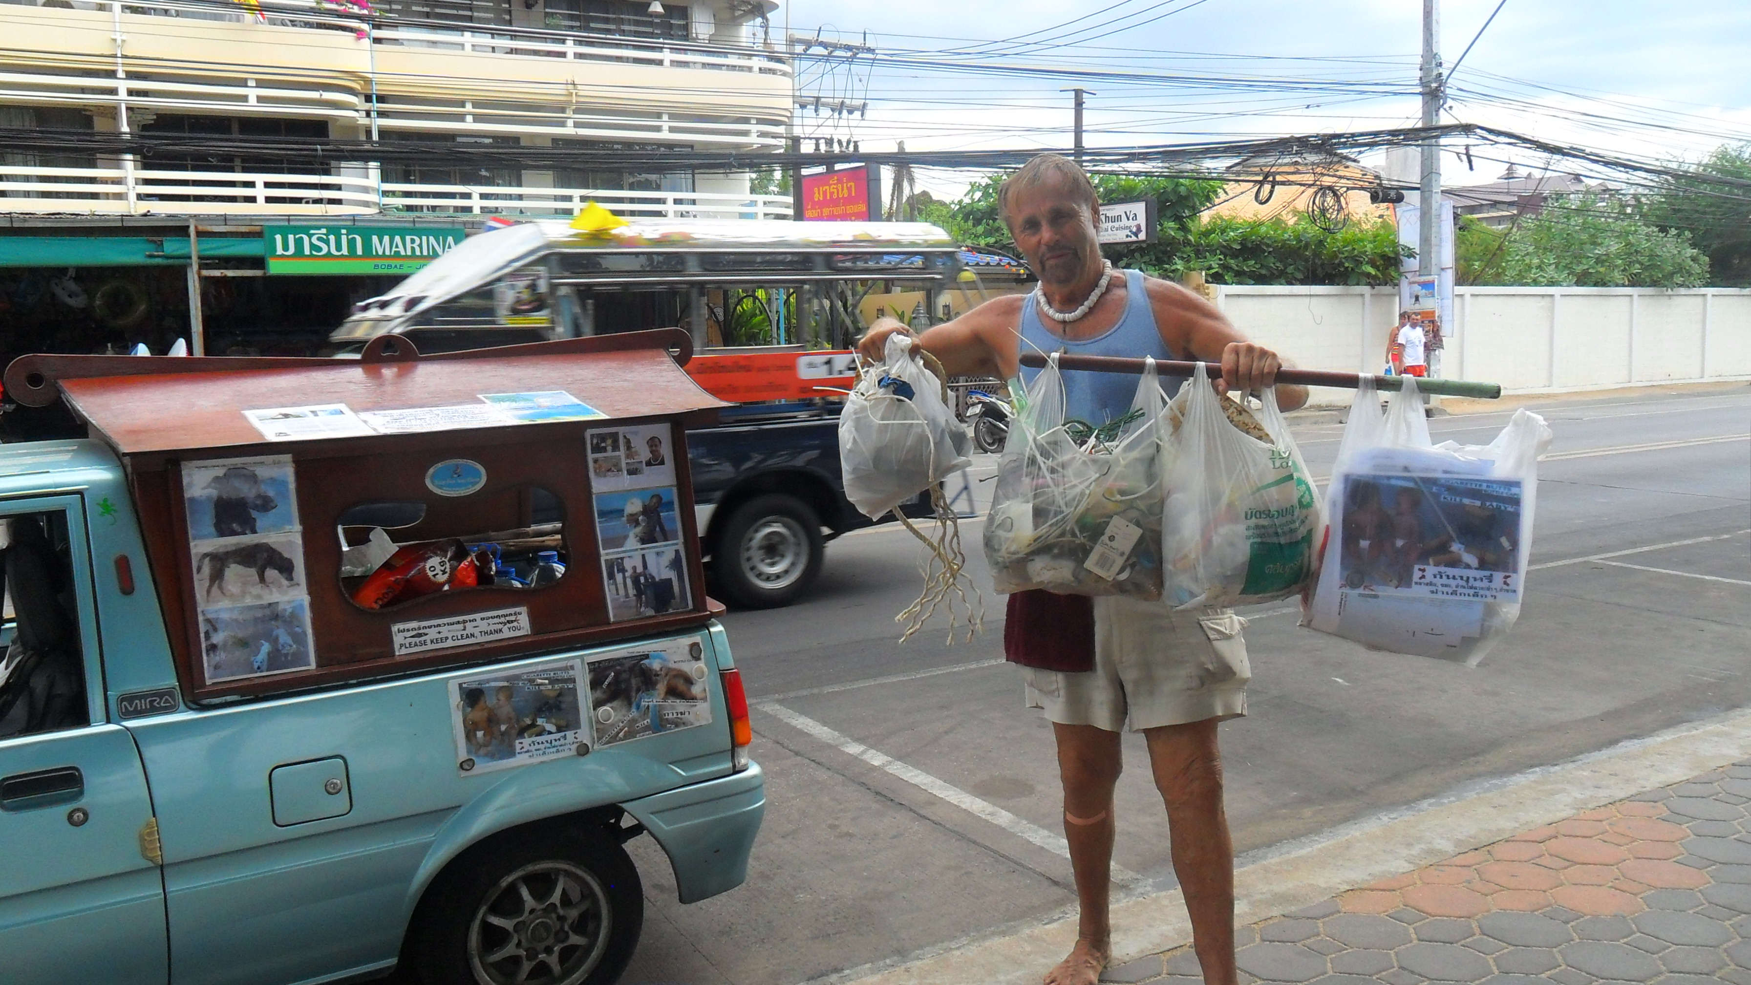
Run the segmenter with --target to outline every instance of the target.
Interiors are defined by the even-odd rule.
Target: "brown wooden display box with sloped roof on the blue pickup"
[[[704,624],[685,429],[721,401],[688,356],[674,330],[443,356],[385,337],[359,361],[32,356],[7,382],[58,386],[123,457],[203,701]],[[422,559],[385,564],[383,540]],[[382,608],[376,570],[411,571]]]

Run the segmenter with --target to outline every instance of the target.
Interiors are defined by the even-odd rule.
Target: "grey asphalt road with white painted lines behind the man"
[[[1292,605],[1245,613],[1250,715],[1222,726],[1240,852],[1751,706],[1751,387],[1532,407],[1557,435],[1534,570],[1481,666],[1369,654],[1297,627]],[[1431,429],[1485,443],[1506,421]],[[1315,475],[1340,435],[1329,415],[1296,426]],[[965,538],[989,585],[977,522]],[[1003,599],[986,596],[972,643],[944,645],[939,626],[897,645],[918,556],[895,528],[851,535],[804,601],[725,619],[756,703],[765,827],[748,883],[693,906],[655,845],[629,847],[648,903],[627,983],[846,978],[1073,903],[1052,738],[1002,664]],[[1135,889],[1166,887],[1161,801],[1140,738],[1124,748],[1115,862]]]

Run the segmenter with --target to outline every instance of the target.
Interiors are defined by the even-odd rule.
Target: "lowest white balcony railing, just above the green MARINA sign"
[[[0,214],[74,216],[573,216],[597,202],[650,219],[788,219],[781,195],[382,182],[355,175],[0,167]]]

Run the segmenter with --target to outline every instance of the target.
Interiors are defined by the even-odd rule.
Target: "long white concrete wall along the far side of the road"
[[[1310,370],[1378,373],[1397,322],[1392,287],[1219,286],[1247,337]],[[1460,287],[1441,375],[1508,393],[1751,380],[1751,291]],[[1319,389],[1315,403],[1348,403]]]

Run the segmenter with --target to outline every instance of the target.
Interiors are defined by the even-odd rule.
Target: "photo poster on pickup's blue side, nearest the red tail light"
[[[704,643],[671,640],[590,659],[595,745],[711,724]]]

